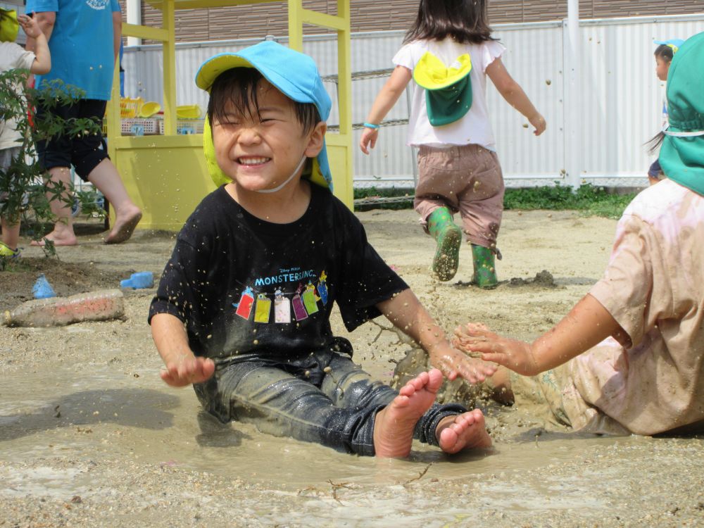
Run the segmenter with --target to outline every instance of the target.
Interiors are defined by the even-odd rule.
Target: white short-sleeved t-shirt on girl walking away
[[[494,132],[491,131],[489,112],[486,108],[486,67],[501,57],[505,48],[496,41],[482,44],[458,44],[453,39],[416,40],[404,45],[394,56],[394,64],[413,72],[420,58],[430,51],[445,64],[451,64],[458,56],[470,54],[472,58],[472,107],[463,118],[449,125],[434,127],[428,120],[425,107],[425,89],[413,83],[413,103],[408,122],[408,144],[411,146],[467,145],[478,144],[496,150]]]

